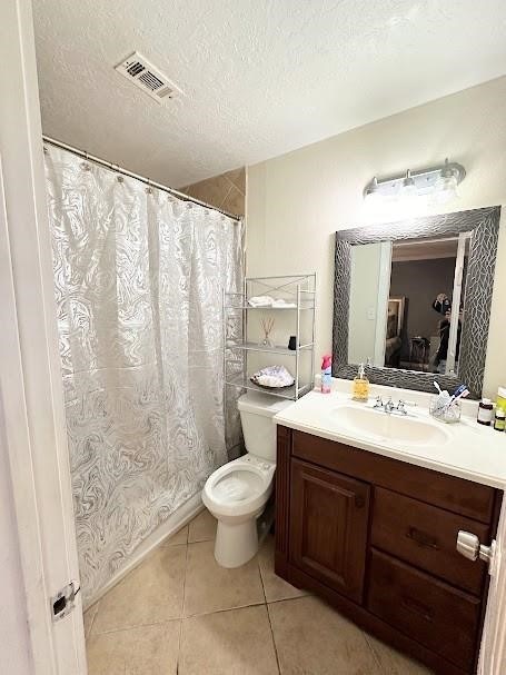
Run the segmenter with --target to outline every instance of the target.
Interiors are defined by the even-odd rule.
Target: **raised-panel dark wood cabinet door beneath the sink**
[[[290,562],[361,602],[369,486],[299,459],[291,463]]]

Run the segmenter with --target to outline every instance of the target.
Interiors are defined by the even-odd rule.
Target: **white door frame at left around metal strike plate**
[[[8,632],[28,664],[19,672],[81,675],[87,669],[80,596],[76,609],[57,622],[50,604],[62,586],[79,579],[79,570],[26,0],[0,2],[0,450],[9,469],[9,493],[1,498],[12,507],[18,536],[9,546],[19,548],[12,552],[21,567],[16,595],[24,614]],[[17,584],[13,575],[0,574],[0,588],[10,579]],[[2,669],[10,654],[9,645],[0,646],[0,671],[17,672]]]

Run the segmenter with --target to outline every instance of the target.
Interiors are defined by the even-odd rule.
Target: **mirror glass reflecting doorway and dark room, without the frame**
[[[470,234],[351,248],[348,360],[457,374]]]

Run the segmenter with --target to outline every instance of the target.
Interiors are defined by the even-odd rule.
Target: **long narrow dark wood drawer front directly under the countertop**
[[[495,489],[486,485],[383,457],[304,431],[292,433],[291,453],[300,459],[393,489],[487,525],[493,517]]]

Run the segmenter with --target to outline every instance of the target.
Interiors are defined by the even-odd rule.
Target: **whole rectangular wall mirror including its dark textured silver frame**
[[[500,207],[336,232],[333,375],[482,394]]]

